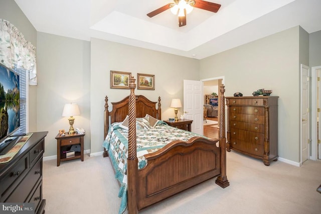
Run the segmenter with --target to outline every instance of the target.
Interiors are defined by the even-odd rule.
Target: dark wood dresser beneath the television
[[[48,132],[36,132],[16,156],[0,164],[1,202],[30,202],[35,213],[44,213],[42,194],[43,153]]]

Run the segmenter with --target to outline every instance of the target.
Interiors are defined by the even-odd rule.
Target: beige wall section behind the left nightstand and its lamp
[[[78,103],[74,127],[84,128],[90,149],[90,42],[38,32],[37,131],[49,131],[44,156],[57,155],[59,129],[69,130],[62,117],[65,103]]]

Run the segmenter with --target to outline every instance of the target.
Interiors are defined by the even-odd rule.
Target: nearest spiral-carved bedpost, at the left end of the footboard
[[[129,79],[129,106],[128,106],[128,158],[127,158],[127,197],[128,213],[138,213],[137,204],[137,177],[138,160],[136,151],[136,88],[135,78]]]

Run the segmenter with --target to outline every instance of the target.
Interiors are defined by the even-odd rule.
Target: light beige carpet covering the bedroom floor
[[[119,186],[109,158],[85,156],[56,166],[44,161],[43,196],[47,214],[118,213]],[[301,167],[284,162],[265,166],[261,160],[227,153],[225,189],[210,179],[139,213],[320,213],[321,162]]]

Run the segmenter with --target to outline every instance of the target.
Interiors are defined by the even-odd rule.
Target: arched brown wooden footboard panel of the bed
[[[194,137],[145,155],[148,164],[138,170],[138,210],[220,175],[217,142]]]

